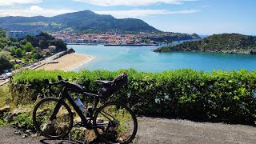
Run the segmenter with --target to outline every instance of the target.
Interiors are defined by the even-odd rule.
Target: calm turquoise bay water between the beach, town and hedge
[[[256,70],[256,55],[213,54],[202,52],[154,53],[156,46],[82,46],[69,45],[78,54],[92,55],[90,62],[74,68],[119,70],[134,68],[144,72],[161,72],[192,68],[194,70]]]

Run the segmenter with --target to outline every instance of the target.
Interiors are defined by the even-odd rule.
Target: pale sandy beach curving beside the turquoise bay
[[[49,63],[38,68],[44,70],[70,70],[76,66],[80,66],[83,63],[89,61],[90,56],[84,54],[66,54],[61,58],[56,59],[58,63]]]

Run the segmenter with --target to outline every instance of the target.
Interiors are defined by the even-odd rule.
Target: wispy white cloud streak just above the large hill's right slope
[[[119,10],[119,11],[95,11],[97,14],[110,14],[115,18],[141,18],[150,15],[162,14],[190,14],[199,10]]]

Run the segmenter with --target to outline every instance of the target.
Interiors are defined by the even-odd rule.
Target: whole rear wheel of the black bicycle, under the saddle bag
[[[108,102],[99,107],[93,122],[95,134],[106,143],[129,143],[138,129],[133,111],[119,102]]]

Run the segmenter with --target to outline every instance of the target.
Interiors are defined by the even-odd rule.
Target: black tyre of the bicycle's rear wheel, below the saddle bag
[[[105,117],[104,116],[104,114],[106,114],[106,112],[104,111],[104,109],[106,109],[106,110],[108,110],[108,108],[106,108],[106,107],[108,107],[108,106],[110,106],[110,109],[112,109],[112,110],[110,110],[110,111],[113,111],[113,113],[115,114],[115,116],[116,117],[118,117],[118,116],[122,116],[122,118],[120,118],[120,120],[117,120],[117,119],[115,119],[114,118],[114,114],[110,114],[111,112],[108,112],[108,114],[107,115],[111,115],[111,117],[112,118],[114,118],[114,120],[112,120],[111,122],[108,122],[108,125],[109,126],[107,126],[106,127],[106,129],[102,126],[102,128],[94,128],[94,132],[95,132],[95,134],[97,135],[97,137],[102,141],[102,142],[105,142],[105,143],[122,143],[122,144],[126,144],[126,143],[129,143],[129,142],[131,142],[133,139],[134,139],[134,137],[135,137],[135,135],[136,135],[136,133],[137,133],[137,130],[138,130],[138,122],[137,122],[137,118],[135,117],[135,114],[134,114],[134,112],[132,111],[132,110],[130,110],[130,108],[128,107],[128,106],[126,106],[125,104],[123,104],[123,103],[120,103],[120,102],[107,102],[106,104],[104,104],[103,106],[100,106],[99,108],[98,108],[98,110],[96,110],[96,112],[95,112],[95,114],[94,114],[94,120],[93,120],[93,125],[94,126],[99,126],[100,124],[99,124],[99,122],[97,122],[97,121],[102,121],[102,123],[104,123],[103,121],[103,118],[102,119],[98,119],[98,118],[101,118],[100,117],[100,114],[102,114],[102,117]],[[112,106],[112,107],[111,107]],[[113,108],[114,106],[116,106],[117,108],[120,108],[120,107],[122,107],[122,109],[118,109],[118,110],[116,110],[115,111],[115,109]],[[117,114],[117,113],[118,114]],[[128,114],[130,114],[130,115],[128,115]],[[130,120],[132,121],[129,121],[130,122],[130,124],[128,124],[128,125],[124,125],[124,126],[120,126],[120,123],[122,123],[121,121],[124,121],[124,122],[126,122],[126,118],[130,118]],[[108,118],[107,118],[108,119]],[[110,120],[110,119],[108,119],[108,120]],[[108,121],[108,120],[106,120],[106,121]],[[127,121],[128,122],[128,121]],[[112,124],[110,124],[110,123],[112,123]],[[113,124],[113,123],[116,123],[116,124]],[[116,125],[116,126],[110,126],[110,125]],[[129,126],[129,125],[133,125],[134,127],[132,128],[132,129],[130,129],[131,130],[131,134],[129,134],[129,132],[124,132],[124,131],[122,131],[122,130],[118,130],[118,129],[126,129],[126,126]],[[116,129],[116,130],[114,130],[114,129]],[[106,131],[104,131],[104,130],[106,130]],[[127,130],[129,130],[129,128],[127,129]],[[113,132],[114,131],[114,132]],[[121,132],[122,131],[122,132]],[[106,132],[106,134],[104,134]],[[120,132],[120,133],[119,133]],[[102,133],[102,134],[101,134]],[[114,133],[114,134],[113,134]],[[117,134],[118,133],[118,134]],[[115,135],[114,137],[115,138],[107,138],[107,135]],[[121,135],[119,135],[119,134],[121,134]],[[122,135],[123,134],[123,135]],[[117,135],[117,136],[116,136]],[[130,135],[130,138],[127,138],[125,141],[124,141],[124,139],[126,138],[126,136],[127,135]],[[112,137],[112,136],[110,136],[110,137]],[[125,138],[124,138],[124,137]]]

